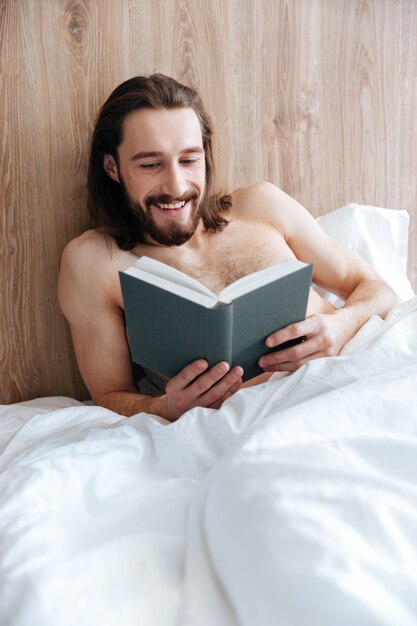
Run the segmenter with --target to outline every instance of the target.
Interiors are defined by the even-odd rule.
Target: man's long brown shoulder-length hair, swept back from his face
[[[229,195],[212,194],[214,163],[212,124],[198,93],[163,74],[136,76],[116,87],[100,109],[93,132],[88,168],[88,209],[92,226],[103,228],[122,250],[143,242],[146,232],[126,206],[120,184],[104,171],[105,154],[119,165],[117,149],[123,141],[123,121],[131,111],[142,108],[194,110],[201,126],[206,159],[206,189],[201,219],[207,230],[222,230],[228,223],[222,215],[231,206]]]

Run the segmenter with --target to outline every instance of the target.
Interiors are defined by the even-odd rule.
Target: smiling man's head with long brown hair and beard
[[[125,250],[144,241],[181,245],[200,219],[206,228],[224,227],[221,201],[210,201],[211,137],[194,90],[162,74],[122,83],[103,105],[92,138],[95,225]]]

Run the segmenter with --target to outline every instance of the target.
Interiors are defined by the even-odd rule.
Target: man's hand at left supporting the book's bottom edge
[[[195,406],[218,409],[242,384],[243,369],[239,366],[230,370],[221,361],[207,368],[207,361],[198,359],[168,381],[166,395],[161,398],[162,417],[174,422]]]

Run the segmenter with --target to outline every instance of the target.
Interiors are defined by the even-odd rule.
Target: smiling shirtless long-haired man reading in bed
[[[173,421],[194,406],[220,407],[242,384],[239,366],[219,363],[208,370],[199,359],[165,389],[152,373],[142,372],[138,388],[118,272],[142,255],[217,292],[240,276],[290,258],[314,264],[314,282],[346,304],[335,310],[312,290],[307,319],[274,333],[266,345],[306,340],[260,358],[261,379],[337,355],[372,315],[384,317],[397,300],[358,255],[327,237],[274,185],[214,195],[211,136],[198,94],[161,74],[124,82],[97,120],[89,166],[89,209],[96,228],[66,247],[59,300],[93,400],[123,415],[146,411]]]

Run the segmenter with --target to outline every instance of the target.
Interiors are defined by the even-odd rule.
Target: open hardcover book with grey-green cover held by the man
[[[239,278],[218,295],[148,257],[119,277],[134,363],[171,378],[199,358],[209,367],[226,361],[240,365],[248,380],[263,373],[258,359],[277,349],[265,346],[266,337],[305,319],[312,265],[291,259]]]

